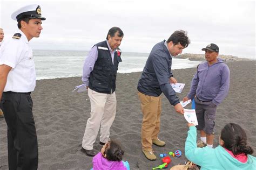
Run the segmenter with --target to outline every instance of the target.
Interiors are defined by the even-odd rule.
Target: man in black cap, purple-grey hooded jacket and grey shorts
[[[205,51],[206,62],[198,66],[191,82],[190,92],[183,101],[194,98],[200,139],[204,143],[207,142],[207,146],[212,147],[216,108],[228,94],[230,69],[223,60],[217,58],[219,55],[217,45],[209,44],[202,51]]]

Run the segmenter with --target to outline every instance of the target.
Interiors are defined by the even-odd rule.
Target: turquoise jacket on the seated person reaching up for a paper
[[[201,166],[201,170],[256,169],[256,158],[252,155],[247,155],[247,162],[242,163],[239,160],[233,158],[232,155],[220,145],[216,148],[207,146],[203,148],[197,147],[197,129],[195,126],[190,126],[190,130],[187,132],[185,155],[188,160]]]

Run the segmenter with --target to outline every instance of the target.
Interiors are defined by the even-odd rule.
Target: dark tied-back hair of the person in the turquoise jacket
[[[232,151],[234,155],[253,153],[253,148],[247,145],[245,130],[238,124],[226,124],[223,130],[221,130],[220,138],[224,141],[224,147]]]

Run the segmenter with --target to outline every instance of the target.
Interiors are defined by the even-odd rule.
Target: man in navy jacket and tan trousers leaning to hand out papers
[[[183,30],[175,31],[166,41],[156,44],[146,61],[142,76],[138,82],[138,95],[143,112],[142,147],[145,157],[151,161],[157,159],[152,144],[165,146],[158,138],[160,131],[161,93],[167,97],[174,109],[184,114],[175,91],[170,83],[177,83],[171,72],[172,56],[180,54],[190,40]]]

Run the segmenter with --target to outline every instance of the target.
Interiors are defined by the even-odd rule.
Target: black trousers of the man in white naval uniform
[[[9,169],[37,169],[38,147],[30,93],[4,92],[2,110],[8,126]]]

